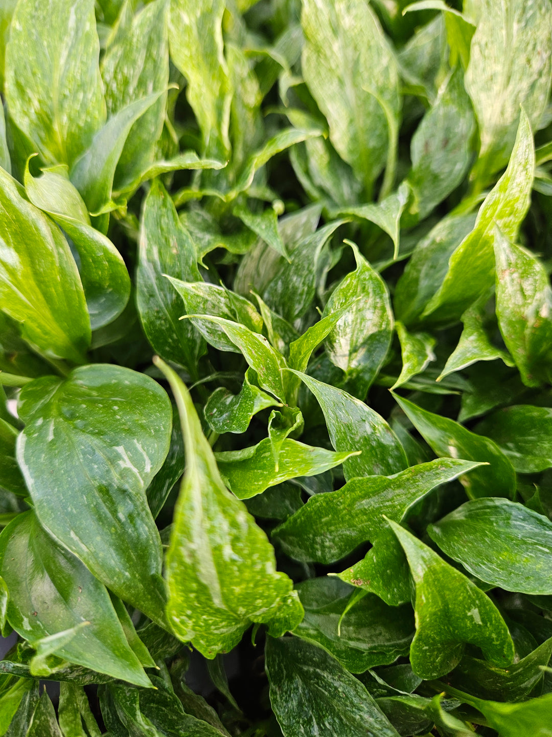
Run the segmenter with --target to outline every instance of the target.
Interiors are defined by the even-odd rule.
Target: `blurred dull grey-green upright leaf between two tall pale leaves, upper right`
[[[475,118],[461,68],[450,73],[412,136],[411,214],[422,220],[461,183],[472,161]]]

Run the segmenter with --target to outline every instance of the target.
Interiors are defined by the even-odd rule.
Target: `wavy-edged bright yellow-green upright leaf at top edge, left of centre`
[[[224,0],[171,0],[169,46],[174,65],[188,80],[186,97],[199,123],[203,152],[224,161],[230,150],[232,91],[224,59]]]

